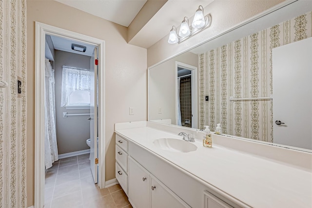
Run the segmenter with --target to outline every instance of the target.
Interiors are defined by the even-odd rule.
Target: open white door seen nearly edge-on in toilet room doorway
[[[98,48],[95,48],[90,60],[90,168],[94,183],[98,183]],[[98,62],[97,62],[98,63]]]

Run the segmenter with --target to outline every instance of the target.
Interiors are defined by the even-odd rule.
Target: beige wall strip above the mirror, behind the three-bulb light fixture
[[[204,13],[211,14],[212,16],[212,23],[209,28],[180,44],[169,44],[168,36],[165,36],[148,48],[147,65],[153,66],[169,57],[176,56],[283,1],[284,0],[215,0],[204,8]]]

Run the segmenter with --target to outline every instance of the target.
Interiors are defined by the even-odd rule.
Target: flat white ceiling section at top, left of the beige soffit
[[[128,27],[147,0],[56,0]]]

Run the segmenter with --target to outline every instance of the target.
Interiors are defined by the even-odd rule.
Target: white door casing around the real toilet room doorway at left
[[[90,66],[93,65],[93,78],[94,81],[94,88],[99,89],[99,92],[93,91],[90,92],[90,97],[94,100],[94,111],[90,111],[90,117],[92,118],[92,113],[94,114],[94,119],[91,122],[95,122],[95,126],[99,126],[97,129],[96,127],[92,128],[94,131],[94,138],[91,139],[91,152],[95,154],[90,163],[91,170],[94,169],[96,173],[99,173],[94,177],[94,182],[98,182],[98,187],[104,188],[105,187],[105,85],[104,85],[104,40],[100,40],[98,38],[92,38],[89,36],[81,35],[78,33],[74,33],[71,31],[63,30],[57,27],[53,27],[50,25],[42,24],[36,22],[36,69],[35,69],[35,207],[42,208],[44,206],[44,188],[45,188],[45,156],[44,156],[44,137],[45,137],[45,49],[48,47],[46,45],[46,36],[50,37],[58,37],[58,38],[65,38],[72,41],[77,41],[79,43],[91,45],[95,50],[95,54],[90,58]],[[97,53],[98,52],[98,55]],[[95,57],[98,57],[98,61],[95,61]],[[91,68],[91,67],[90,67]],[[78,69],[80,70],[80,69]],[[92,79],[92,78],[91,78]],[[98,85],[97,85],[98,83]],[[92,84],[91,84],[92,86]],[[93,95],[94,94],[94,95]],[[92,96],[93,95],[93,96]],[[97,98],[98,97],[98,98]],[[75,97],[71,97],[71,101],[75,100]],[[91,106],[91,105],[89,105]],[[98,107],[97,107],[98,106]],[[91,107],[89,107],[90,109]],[[98,110],[98,111],[97,111]],[[65,114],[67,114],[65,112]],[[69,113],[70,114],[70,113]],[[85,113],[72,113],[72,114],[85,114]],[[87,113],[86,113],[87,114]],[[67,114],[68,115],[68,114]],[[97,119],[98,118],[98,119]],[[98,125],[97,125],[98,123]],[[90,128],[91,130],[91,128]],[[92,132],[92,130],[90,132]],[[97,135],[98,134],[98,142],[97,142]],[[85,139],[88,139],[85,138]],[[92,142],[93,141],[93,142]],[[98,145],[97,145],[98,143]],[[98,148],[97,148],[98,147]],[[95,153],[98,151],[98,155]],[[75,157],[75,156],[74,156]],[[84,158],[85,159],[85,158]],[[89,158],[87,158],[89,159]]]

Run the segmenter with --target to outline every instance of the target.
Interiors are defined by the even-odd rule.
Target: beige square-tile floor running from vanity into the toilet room
[[[60,159],[45,174],[44,208],[132,208],[119,184],[94,184],[89,154]]]

